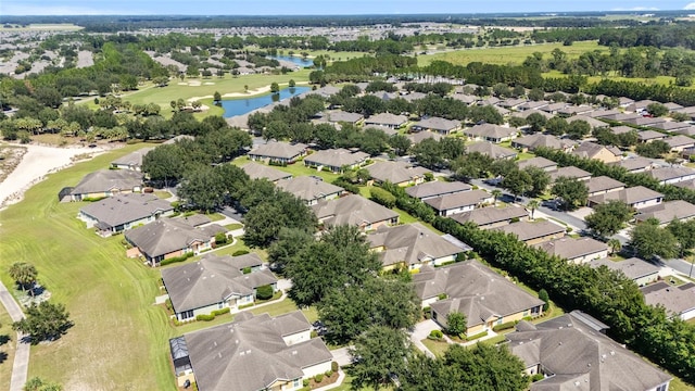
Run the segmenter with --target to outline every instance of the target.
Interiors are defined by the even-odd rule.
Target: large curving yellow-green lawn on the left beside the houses
[[[63,187],[142,147],[127,146],[52,174],[23,202],[0,212],[0,269],[17,261],[35,264],[51,300],[64,303],[75,323],[60,340],[31,348],[29,377],[61,382],[66,390],[175,387],[167,340],[181,331],[152,305],[162,293],[160,272],[126,258],[122,236],[94,235],[75,217],[81,204],[59,204],[56,197]],[[11,286],[7,273],[0,278]]]

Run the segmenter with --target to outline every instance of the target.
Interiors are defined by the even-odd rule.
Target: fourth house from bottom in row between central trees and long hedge
[[[312,211],[326,227],[352,225],[366,231],[399,223],[397,213],[357,194],[320,201]]]

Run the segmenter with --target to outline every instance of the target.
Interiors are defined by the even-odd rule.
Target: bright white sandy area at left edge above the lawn
[[[22,146],[27,149],[22,162],[0,182],[0,207],[22,200],[24,192],[43,179],[47,174],[70,166],[78,154],[91,155],[103,152],[100,148],[58,148]],[[52,194],[58,197],[58,194]]]

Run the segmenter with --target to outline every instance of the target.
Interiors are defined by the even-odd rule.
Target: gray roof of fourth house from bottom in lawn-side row
[[[79,211],[110,227],[136,222],[155,214],[173,211],[172,204],[154,194],[116,194],[92,202]]]

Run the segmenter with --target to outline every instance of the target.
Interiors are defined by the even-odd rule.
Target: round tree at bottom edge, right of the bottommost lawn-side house
[[[355,362],[351,369],[353,387],[371,386],[378,390],[390,381],[391,375],[403,373],[410,346],[403,330],[371,326],[355,340],[350,354]]]

